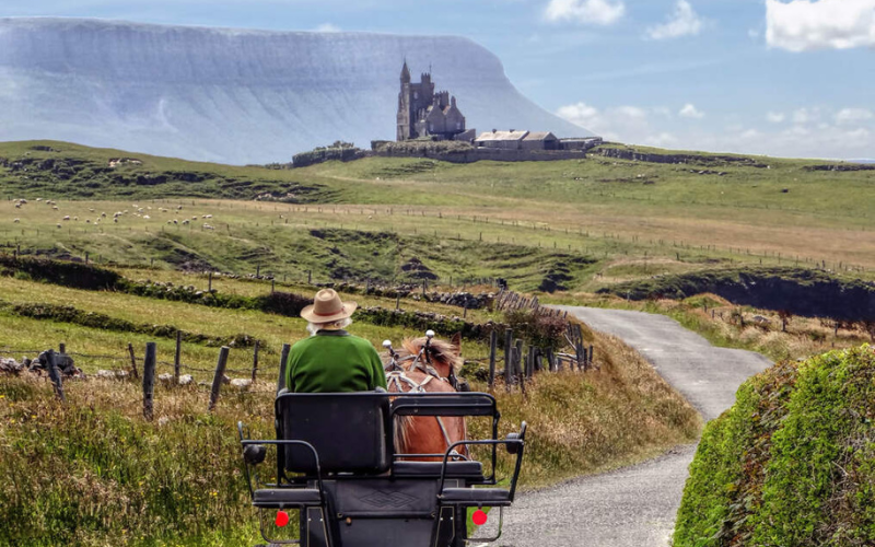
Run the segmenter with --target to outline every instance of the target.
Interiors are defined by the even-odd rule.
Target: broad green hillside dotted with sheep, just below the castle
[[[400,278],[406,261],[421,255],[446,281],[506,277],[523,290],[596,290],[738,265],[873,278],[873,171],[709,154],[651,163],[604,151],[563,162],[371,158],[278,171],[59,142],[0,143],[0,195],[30,200],[20,209],[0,202],[0,245],[89,252],[132,266],[261,266],[298,280],[307,270],[322,280]],[[141,163],[110,167],[119,158]],[[258,196],[277,201],[253,201]],[[60,200],[58,210],[47,199]],[[133,205],[143,208],[139,217]],[[95,228],[102,212],[107,218]]]

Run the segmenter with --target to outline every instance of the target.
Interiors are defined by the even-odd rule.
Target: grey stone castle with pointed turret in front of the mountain
[[[456,97],[447,91],[434,92],[431,74],[421,74],[419,83],[410,81],[407,60],[401,69],[401,91],[398,93],[397,140],[421,137],[438,140],[456,140],[460,136],[474,138],[474,130],[466,131],[465,116],[456,106]]]

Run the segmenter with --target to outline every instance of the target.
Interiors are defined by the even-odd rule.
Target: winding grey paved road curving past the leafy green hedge
[[[622,338],[702,414],[720,416],[735,391],[771,363],[759,353],[711,346],[662,315],[559,306]],[[696,446],[643,464],[521,496],[509,511],[508,547],[665,547]]]

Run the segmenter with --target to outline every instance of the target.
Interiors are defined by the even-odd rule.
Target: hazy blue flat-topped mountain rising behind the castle
[[[590,133],[525,98],[459,37],[0,19],[0,140],[56,139],[189,160],[289,161],[395,138],[404,59],[432,66],[468,127]]]

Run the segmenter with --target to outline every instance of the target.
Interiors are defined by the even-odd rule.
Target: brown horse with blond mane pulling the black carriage
[[[447,393],[455,392],[456,373],[462,365],[462,337],[452,341],[435,340],[428,336],[406,339],[398,352],[395,366],[386,369],[389,393]],[[446,449],[466,439],[465,418],[412,417],[395,420],[395,452],[397,454],[443,454]],[[465,456],[465,446],[456,449]],[[441,457],[411,458],[440,462]]]

